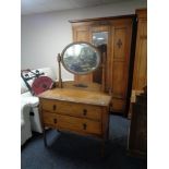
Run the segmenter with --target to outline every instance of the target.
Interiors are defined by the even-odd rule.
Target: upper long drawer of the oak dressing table
[[[59,100],[48,100],[48,99],[43,99],[41,106],[44,110],[50,112],[69,114],[79,118],[87,118],[97,121],[101,120],[102,110],[101,107],[99,106],[74,104]]]

